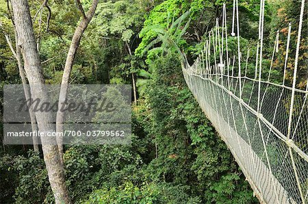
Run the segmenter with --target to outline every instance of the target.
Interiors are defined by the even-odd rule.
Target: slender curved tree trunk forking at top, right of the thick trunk
[[[94,12],[97,9],[98,3],[99,3],[99,0],[93,0],[92,5],[90,9],[88,10],[87,14],[84,14],[84,10],[81,9],[81,12],[83,12],[84,18],[81,20],[78,27],[76,28],[72,42],[70,42],[70,49],[68,50],[68,54],[66,57],[66,62],[65,62],[64,72],[63,72],[62,82],[61,82],[60,95],[59,95],[59,109],[57,111],[57,121],[56,121],[57,123],[56,123],[56,128],[55,128],[57,132],[63,131],[64,113],[61,112],[60,110],[61,110],[62,103],[66,101],[68,82],[70,79],[70,72],[72,71],[73,63],[75,60],[75,55],[79,47],[82,34],[84,34],[84,31],[86,30],[92,17],[94,16]],[[58,146],[59,153],[60,153],[60,160],[61,162],[63,162],[63,138],[62,137],[57,137],[57,146]]]

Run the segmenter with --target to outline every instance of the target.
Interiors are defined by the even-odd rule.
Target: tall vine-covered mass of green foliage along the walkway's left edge
[[[143,119],[157,145],[158,157],[147,168],[151,179],[190,186],[202,203],[255,203],[227,146],[185,86],[177,57],[166,55],[151,66],[153,80],[145,95],[149,116]]]

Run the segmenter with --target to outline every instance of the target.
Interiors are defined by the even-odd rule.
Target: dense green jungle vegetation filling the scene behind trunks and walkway
[[[216,18],[222,19],[224,2],[231,33],[233,1],[99,1],[82,35],[69,83],[136,85],[133,137],[129,145],[64,146],[65,183],[73,203],[258,203],[181,73],[179,53],[185,53],[190,63],[196,59]],[[87,12],[91,4],[91,0],[29,0],[46,84],[61,84],[70,42],[83,21],[80,6]],[[299,5],[297,0],[266,1],[265,55],[272,53],[277,29],[296,21]],[[248,45],[258,38],[259,1],[240,0],[239,10],[246,55]],[[178,25],[172,26],[175,21]],[[0,92],[5,84],[22,83],[6,39],[9,36],[15,46],[13,22],[11,1],[0,0]],[[282,33],[286,38],[287,30]],[[228,40],[232,51],[236,40]],[[284,43],[281,40],[281,55]],[[301,47],[302,58],[307,58],[305,49]],[[277,80],[283,63],[274,62]],[[254,62],[248,64],[251,73],[254,68]],[[288,69],[292,71],[292,60]],[[1,105],[1,118],[2,109]],[[3,123],[0,130],[2,138]],[[41,146],[34,151],[32,145],[1,145],[0,155],[0,203],[55,203]]]

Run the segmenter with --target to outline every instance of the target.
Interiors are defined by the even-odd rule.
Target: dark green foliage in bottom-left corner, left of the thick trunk
[[[1,188],[5,188],[5,183],[11,188],[16,186],[10,189],[12,192],[1,190],[2,201],[12,202],[7,196],[14,194],[16,203],[43,203],[47,192],[51,192],[44,161],[34,151],[27,156],[3,155],[0,169]]]

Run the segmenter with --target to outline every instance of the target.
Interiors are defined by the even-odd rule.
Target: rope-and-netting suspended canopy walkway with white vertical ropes
[[[297,86],[298,80],[303,80],[298,77],[298,64],[304,10],[302,0],[296,41],[290,38],[292,23],[287,27],[283,77],[279,82],[273,82],[271,77],[280,31],[270,66],[264,66],[264,0],[260,2],[256,55],[250,56],[248,49],[242,56],[238,0],[234,0],[231,37],[224,5],[222,22],[216,20],[199,57],[192,66],[183,64],[188,87],[261,203],[308,203],[308,79],[304,79],[305,88]],[[236,55],[229,53],[228,36],[238,40]],[[292,69],[288,70],[290,43],[296,44],[296,51]],[[248,71],[251,60],[255,63],[253,75]],[[286,76],[290,73],[291,86],[287,86]]]

